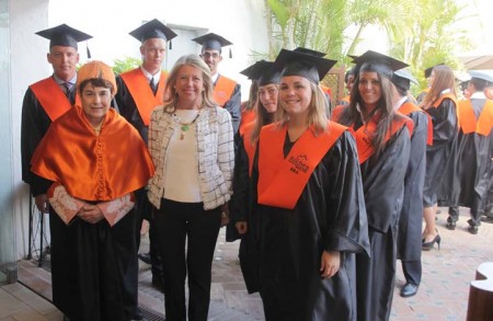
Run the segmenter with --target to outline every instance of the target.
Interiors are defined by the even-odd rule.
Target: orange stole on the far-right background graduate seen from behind
[[[460,101],[458,104],[460,128],[463,134],[478,133],[483,136],[490,135],[493,127],[493,101],[486,100],[478,121],[470,100]]]

